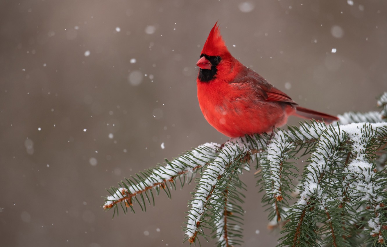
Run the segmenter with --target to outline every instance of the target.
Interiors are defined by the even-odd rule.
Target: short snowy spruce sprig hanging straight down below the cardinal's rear
[[[267,151],[261,156],[262,172],[257,176],[260,190],[265,191],[262,203],[269,206],[269,220],[276,218],[279,223],[288,215],[285,209],[289,207],[288,200],[293,198],[295,188],[292,177],[298,177],[294,162],[288,160],[297,159],[296,153],[303,148],[306,150],[301,156],[308,153],[326,129],[323,122],[303,122],[300,127],[288,126],[288,130],[279,130],[272,137]]]

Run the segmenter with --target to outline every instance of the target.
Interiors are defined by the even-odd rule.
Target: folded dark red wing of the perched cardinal
[[[266,81],[264,77],[247,67],[244,67],[244,69],[238,73],[238,76],[236,76],[231,83],[248,83],[252,85],[256,90],[257,96],[265,101],[287,102],[298,105],[286,93],[277,89],[268,81]]]

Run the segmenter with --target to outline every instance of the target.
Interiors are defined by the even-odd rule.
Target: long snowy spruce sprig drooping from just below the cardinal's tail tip
[[[322,228],[328,231],[326,233],[327,236],[325,236],[325,242],[331,242],[332,246],[342,246],[337,243],[337,241],[342,242],[342,235],[337,236],[337,224],[332,224],[332,217],[337,215],[334,215],[335,211],[331,210],[334,207],[329,206],[329,202],[332,201],[331,194],[334,193],[329,189],[329,184],[333,185],[334,181],[337,180],[334,168],[336,167],[336,162],[341,161],[341,157],[344,154],[340,151],[340,148],[345,142],[346,135],[339,127],[329,126],[321,133],[320,139],[310,156],[310,164],[304,167],[300,199],[296,206],[293,207],[293,212],[290,212],[288,216],[291,218],[292,214],[298,215],[302,212],[301,216],[303,217],[299,218],[298,222],[290,222],[297,224],[297,227],[293,225],[293,227],[289,228],[291,229],[289,236],[293,241],[293,246],[296,246],[295,244],[303,239],[301,225],[305,220],[304,218],[312,220],[316,228],[318,223],[322,223]],[[317,214],[316,211],[321,212]],[[340,216],[340,212],[338,213]],[[318,233],[311,235],[310,237],[313,238],[310,241],[313,242],[320,239]]]

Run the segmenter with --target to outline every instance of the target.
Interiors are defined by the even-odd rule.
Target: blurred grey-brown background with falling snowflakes
[[[375,110],[387,90],[386,12],[384,0],[2,0],[0,245],[188,246],[180,227],[194,185],[114,219],[101,196],[164,158],[227,140],[196,97],[214,23],[243,64],[336,115]],[[253,173],[243,179],[244,245],[274,246]]]

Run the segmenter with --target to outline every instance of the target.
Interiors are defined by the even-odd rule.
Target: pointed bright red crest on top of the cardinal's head
[[[225,51],[228,51],[227,46],[226,43],[224,43],[224,40],[219,31],[219,25],[217,25],[216,22],[204,43],[202,54],[208,56],[217,56],[224,53]]]

